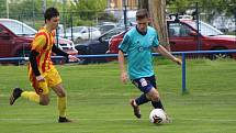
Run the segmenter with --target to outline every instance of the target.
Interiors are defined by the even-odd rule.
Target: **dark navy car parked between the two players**
[[[109,40],[115,35],[124,31],[124,27],[115,27],[112,29],[98,38],[86,41],[81,44],[76,45],[76,49],[78,51],[79,55],[101,55],[105,54],[109,49]],[[106,62],[105,58],[81,58],[81,64],[89,64],[89,63],[104,63]]]

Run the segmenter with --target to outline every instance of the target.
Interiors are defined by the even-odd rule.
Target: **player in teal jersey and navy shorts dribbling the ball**
[[[155,29],[148,26],[149,16],[146,9],[136,12],[137,25],[132,27],[119,45],[119,64],[121,69],[121,80],[126,82],[128,77],[132,82],[143,92],[138,98],[131,100],[134,114],[141,118],[139,107],[151,101],[155,109],[162,109],[159,92],[156,87],[156,79],[153,69],[151,49],[160,53],[169,59],[181,65],[181,59],[172,56],[165,47],[159,45]],[[125,69],[124,54],[127,54],[127,71]]]

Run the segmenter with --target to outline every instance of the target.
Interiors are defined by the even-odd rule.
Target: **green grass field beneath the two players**
[[[236,62],[187,60],[188,95],[181,93],[181,67],[155,63],[157,84],[172,123],[149,123],[151,106],[134,118],[130,98],[139,96],[132,84],[122,85],[117,63],[57,66],[68,92],[74,123],[57,123],[56,96],[41,107],[25,99],[9,106],[11,88],[33,90],[26,66],[0,66],[1,133],[235,133]]]

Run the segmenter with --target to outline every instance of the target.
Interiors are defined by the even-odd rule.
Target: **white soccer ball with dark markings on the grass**
[[[165,123],[167,121],[167,115],[162,109],[154,109],[150,111],[149,120],[151,123]]]

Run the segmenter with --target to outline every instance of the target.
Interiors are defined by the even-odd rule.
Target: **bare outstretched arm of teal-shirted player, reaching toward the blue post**
[[[172,54],[170,54],[164,46],[158,45],[157,47],[154,48],[156,52],[160,53],[165,57],[171,59],[172,62],[177,63],[178,65],[182,64],[182,60],[175,57]]]

